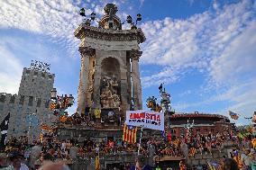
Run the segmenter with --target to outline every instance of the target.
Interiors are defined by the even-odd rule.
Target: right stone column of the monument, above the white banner
[[[142,85],[139,70],[139,58],[142,56],[142,51],[132,49],[132,80],[133,80],[133,107],[134,110],[142,109]]]

